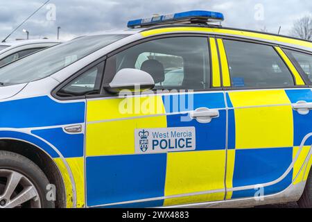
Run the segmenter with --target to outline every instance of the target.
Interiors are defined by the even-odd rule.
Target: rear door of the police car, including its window
[[[227,199],[276,194],[300,169],[292,103],[306,86],[279,46],[231,39],[218,46],[229,118]]]

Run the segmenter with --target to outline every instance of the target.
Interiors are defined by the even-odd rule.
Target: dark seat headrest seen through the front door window
[[[141,65],[141,70],[153,77],[155,83],[164,82],[164,65],[157,60],[146,60]]]

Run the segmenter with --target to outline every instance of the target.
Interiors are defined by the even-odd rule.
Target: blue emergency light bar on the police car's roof
[[[223,20],[223,14],[220,12],[194,10],[131,20],[127,26],[128,28],[143,28],[162,24],[207,24],[210,22],[222,22]]]

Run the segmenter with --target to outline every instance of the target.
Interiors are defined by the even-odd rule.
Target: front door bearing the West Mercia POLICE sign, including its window
[[[224,200],[226,107],[214,38],[128,46],[108,56],[104,84],[125,68],[148,72],[155,88],[87,99],[87,206]]]

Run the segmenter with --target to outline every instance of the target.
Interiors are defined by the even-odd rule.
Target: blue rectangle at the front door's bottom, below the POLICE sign
[[[166,153],[87,157],[87,205],[164,196]]]

